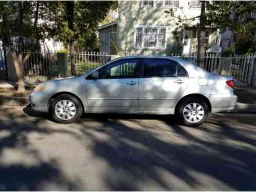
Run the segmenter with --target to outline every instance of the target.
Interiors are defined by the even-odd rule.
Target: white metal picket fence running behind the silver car
[[[25,56],[26,53],[24,53]],[[172,57],[178,57],[197,65],[196,55],[173,54]],[[118,58],[118,55],[99,52],[80,52],[75,54],[76,74],[84,74],[95,69],[104,63]],[[231,75],[242,84],[250,84],[253,74],[253,65],[255,55],[235,55],[230,57],[221,57],[220,55],[207,54],[205,56],[205,70],[211,73],[221,74],[225,70],[225,75]],[[67,54],[68,74],[70,74],[70,57]],[[57,76],[57,53],[33,52],[28,60],[26,67],[28,75],[47,75]]]

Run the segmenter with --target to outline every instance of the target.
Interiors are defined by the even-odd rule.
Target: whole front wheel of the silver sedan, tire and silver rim
[[[81,117],[83,110],[76,97],[63,94],[53,100],[50,113],[52,118],[59,123],[72,123]]]

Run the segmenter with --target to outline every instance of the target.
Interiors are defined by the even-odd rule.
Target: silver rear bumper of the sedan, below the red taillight
[[[237,96],[234,94],[211,94],[207,97],[212,105],[211,113],[232,111],[237,102]]]

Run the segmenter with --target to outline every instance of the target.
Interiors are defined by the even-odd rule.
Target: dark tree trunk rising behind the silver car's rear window
[[[205,68],[205,28],[206,28],[206,16],[205,16],[205,1],[202,1],[200,22],[197,31],[197,66]]]

